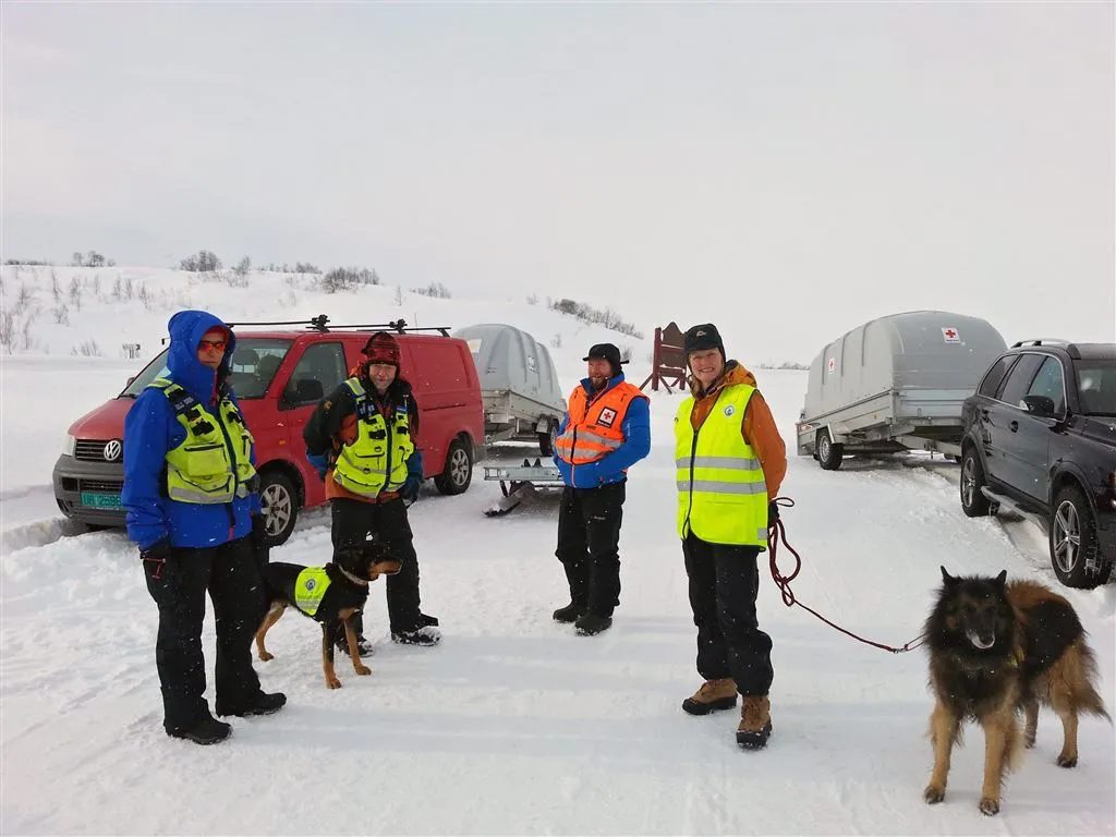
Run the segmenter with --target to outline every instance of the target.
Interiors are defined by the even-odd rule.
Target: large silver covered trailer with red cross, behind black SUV
[[[810,364],[798,454],[840,468],[846,453],[961,455],[961,404],[1007,349],[987,320],[908,311],[865,323]]]

